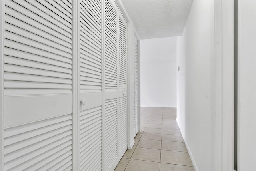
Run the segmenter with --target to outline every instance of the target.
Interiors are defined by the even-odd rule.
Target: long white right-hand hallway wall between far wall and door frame
[[[214,0],[194,0],[177,40],[177,121],[196,171],[214,171]]]

